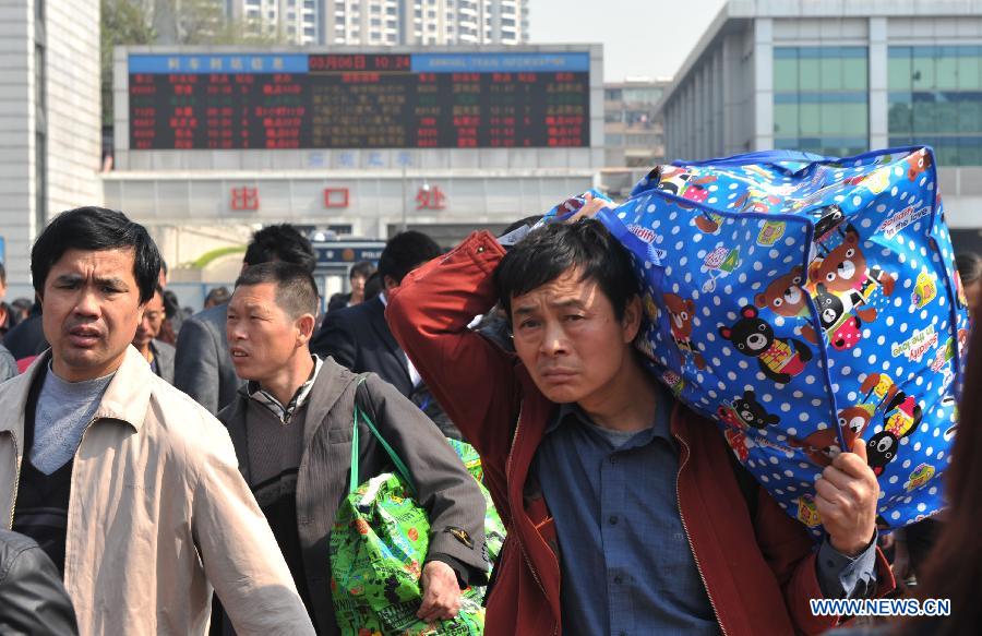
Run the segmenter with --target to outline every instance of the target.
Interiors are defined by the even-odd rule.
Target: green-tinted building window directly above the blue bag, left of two
[[[865,47],[774,49],[774,145],[849,156],[870,145]]]

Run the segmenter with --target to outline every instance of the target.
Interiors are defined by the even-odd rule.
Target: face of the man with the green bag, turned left
[[[287,365],[299,345],[298,321],[276,304],[276,285],[239,286],[225,327],[236,374],[260,384]]]

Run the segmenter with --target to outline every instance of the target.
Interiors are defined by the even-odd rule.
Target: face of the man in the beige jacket
[[[45,279],[41,324],[55,373],[101,377],[122,363],[143,317],[129,250],[68,250]]]

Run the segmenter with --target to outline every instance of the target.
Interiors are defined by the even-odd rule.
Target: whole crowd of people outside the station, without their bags
[[[190,317],[142,226],[55,217],[36,300],[0,302],[0,633],[340,634],[327,544],[352,458],[359,482],[394,470],[379,435],[429,518],[417,616],[434,633],[489,581],[488,634],[974,633],[975,392],[943,517],[881,536],[858,444],[815,484],[815,544],[647,371],[638,284],[599,206],[448,252],[402,232],[326,312],[308,239],[268,226]],[[982,259],[958,268],[977,314]],[[493,564],[447,437],[479,453],[507,529]],[[810,604],[891,595],[953,612],[857,625]]]

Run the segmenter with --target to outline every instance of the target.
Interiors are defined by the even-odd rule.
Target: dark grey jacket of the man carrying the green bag
[[[348,494],[351,468],[351,431],[358,376],[325,360],[308,396],[303,430],[303,458],[297,475],[297,528],[303,550],[307,587],[313,602],[319,634],[339,634],[331,600],[328,540],[337,507]],[[484,560],[484,500],[460,459],[420,410],[393,387],[369,374],[358,392],[375,428],[395,448],[417,485],[417,501],[430,518],[428,560],[451,564],[468,583],[481,585]],[[239,470],[248,482],[249,449],[246,437],[248,396],[236,399],[218,413],[228,428]],[[392,461],[368,425],[359,424],[359,483],[393,471]],[[463,529],[469,542],[451,529]],[[450,557],[450,559],[441,559]]]

